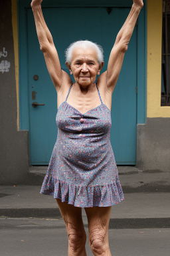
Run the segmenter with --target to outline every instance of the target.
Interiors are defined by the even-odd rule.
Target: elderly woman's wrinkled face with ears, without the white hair
[[[72,63],[66,63],[70,74],[74,75],[76,83],[86,87],[96,80],[96,75],[100,75],[100,71],[104,65],[98,63],[98,56],[93,48],[75,48],[72,51]]]

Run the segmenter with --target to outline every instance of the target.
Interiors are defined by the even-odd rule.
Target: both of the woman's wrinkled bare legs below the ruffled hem
[[[82,208],[56,199],[68,234],[68,255],[86,255],[86,232],[82,221]],[[111,256],[108,227],[112,207],[84,208],[88,218],[88,243],[94,255]]]

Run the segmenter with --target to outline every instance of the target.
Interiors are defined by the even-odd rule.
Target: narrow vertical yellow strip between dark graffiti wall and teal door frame
[[[15,55],[15,80],[17,91],[17,129],[19,130],[19,44],[18,44],[18,23],[17,23],[17,0],[12,3],[13,41]]]

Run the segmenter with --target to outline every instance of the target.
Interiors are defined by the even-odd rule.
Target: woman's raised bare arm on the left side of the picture
[[[59,91],[62,85],[62,76],[64,71],[61,69],[58,53],[56,51],[56,47],[54,46],[52,35],[50,34],[50,31],[44,21],[41,3],[42,0],[33,0],[31,2],[31,7],[35,17],[35,25],[39,38],[40,49],[44,54],[46,67],[52,82],[54,83],[54,87],[56,87],[56,91]]]

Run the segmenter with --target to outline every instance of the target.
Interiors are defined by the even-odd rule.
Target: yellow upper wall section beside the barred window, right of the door
[[[147,0],[147,117],[170,117],[161,107],[162,0]]]

